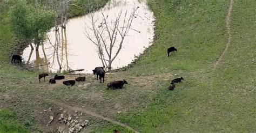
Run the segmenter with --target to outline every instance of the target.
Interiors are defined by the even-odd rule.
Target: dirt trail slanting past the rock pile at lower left
[[[42,99],[42,100],[46,101],[45,99]],[[56,104],[56,105],[58,105],[58,106],[65,107],[65,108],[67,108],[67,109],[69,109],[69,110],[84,112],[84,113],[86,113],[86,114],[88,114],[88,115],[97,117],[98,119],[102,119],[102,120],[109,121],[109,122],[111,122],[111,123],[120,125],[120,126],[122,126],[122,127],[124,127],[124,128],[130,129],[130,130],[132,130],[132,131],[134,131],[134,132],[136,132],[136,133],[138,132],[138,131],[134,130],[133,128],[129,127],[128,125],[126,125],[126,124],[123,124],[123,123],[120,123],[120,122],[118,122],[118,121],[112,120],[112,119],[110,119],[110,118],[107,118],[107,117],[98,115],[98,114],[96,114],[96,113],[93,113],[93,112],[91,112],[91,111],[85,109],[85,108],[69,106],[69,105],[63,104],[62,102],[58,102],[58,101],[56,101],[56,100],[50,100],[50,99],[49,99],[48,102],[51,102],[52,104]]]

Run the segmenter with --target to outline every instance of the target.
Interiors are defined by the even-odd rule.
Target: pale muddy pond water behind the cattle
[[[138,56],[151,45],[154,17],[145,1],[112,0],[102,9],[105,16],[109,15],[109,20],[113,20],[120,10],[123,10],[122,15],[126,10],[130,14],[134,6],[139,7],[138,16],[134,18],[131,29],[124,39],[123,48],[112,63],[114,69],[131,63],[134,56]],[[99,21],[102,20],[100,13],[93,13]],[[31,51],[28,47],[23,51],[22,57],[26,63],[45,72],[85,69],[83,73],[92,73],[92,69],[102,66],[102,61],[97,54],[97,47],[85,36],[85,28],[90,27],[90,21],[89,15],[69,19],[65,29],[59,28],[58,32],[51,29],[48,33],[49,39],[45,40],[38,51]],[[117,38],[118,41],[120,38]],[[114,50],[116,49],[117,47],[114,47]]]

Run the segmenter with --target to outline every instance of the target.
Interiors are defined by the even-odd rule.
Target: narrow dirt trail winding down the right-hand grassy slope
[[[226,47],[223,51],[223,53],[220,55],[218,60],[213,64],[213,71],[217,68],[219,62],[223,59],[223,56],[227,53],[227,48],[230,46],[231,43],[231,15],[232,15],[232,10],[233,10],[233,5],[234,5],[234,0],[230,0],[230,6],[228,7],[227,10],[227,16],[226,16],[226,27],[227,27],[227,43]]]

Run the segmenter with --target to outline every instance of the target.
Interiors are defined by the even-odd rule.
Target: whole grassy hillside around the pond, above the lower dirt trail
[[[230,0],[148,3],[156,17],[156,40],[132,68],[107,75],[106,83],[117,77],[129,81],[123,90],[115,91],[106,90],[106,84],[99,84],[92,76],[86,77],[86,83],[90,83],[87,86],[38,84],[38,72],[11,65],[8,55],[13,35],[5,6],[0,5],[0,96],[15,98],[5,100],[7,104],[0,101],[0,107],[36,117],[34,122],[38,123],[45,117],[31,111],[41,112],[52,107],[50,101],[60,101],[74,108],[86,105],[93,113],[141,132],[255,132],[256,2],[235,1],[231,44],[216,68],[213,66],[227,43]],[[178,52],[167,57],[171,46]],[[181,76],[184,82],[168,91],[171,79]],[[12,106],[16,99],[21,106]],[[125,111],[113,113],[116,105],[122,105]],[[128,132],[120,125],[97,122],[90,123],[90,131],[110,132],[117,128]]]

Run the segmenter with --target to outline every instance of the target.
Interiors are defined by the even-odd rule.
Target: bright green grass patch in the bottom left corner
[[[8,110],[0,109],[0,132],[28,132],[25,127],[17,121],[17,115]]]

